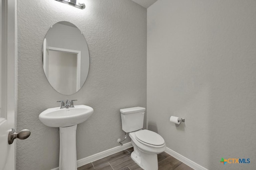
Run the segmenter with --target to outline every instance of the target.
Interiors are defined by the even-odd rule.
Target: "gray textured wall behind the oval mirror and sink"
[[[30,129],[17,141],[17,170],[58,167],[59,130],[46,127],[38,115],[57,107],[57,100],[94,108],[77,129],[77,158],[118,146],[124,134],[119,109],[146,107],[146,9],[130,0],[86,0],[80,10],[55,0],[18,1],[17,129]],[[42,68],[42,43],[50,25],[74,23],[90,53],[88,78],[71,96],[56,92]],[[127,140],[126,142],[128,142]]]

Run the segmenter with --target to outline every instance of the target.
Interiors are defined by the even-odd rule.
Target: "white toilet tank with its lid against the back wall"
[[[144,107],[120,109],[123,131],[128,133],[142,129],[145,110]]]

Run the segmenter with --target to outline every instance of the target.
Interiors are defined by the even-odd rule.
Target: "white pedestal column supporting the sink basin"
[[[77,170],[76,163],[76,127],[60,127],[59,170]]]

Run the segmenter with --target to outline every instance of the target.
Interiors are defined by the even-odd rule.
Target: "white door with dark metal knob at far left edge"
[[[15,143],[8,144],[9,130],[15,128],[15,11],[16,0],[0,2],[0,170],[14,170]]]

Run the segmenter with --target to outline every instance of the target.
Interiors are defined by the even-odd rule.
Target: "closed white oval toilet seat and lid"
[[[149,147],[161,148],[165,145],[164,139],[159,134],[146,129],[135,132],[135,138],[138,142]]]

